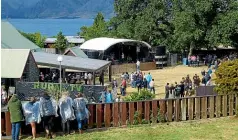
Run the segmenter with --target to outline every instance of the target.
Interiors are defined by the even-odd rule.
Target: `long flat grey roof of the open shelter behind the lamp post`
[[[34,52],[33,56],[37,65],[44,65],[50,67],[59,67],[59,62],[57,61],[58,54],[50,54],[45,52]],[[104,67],[109,66],[110,61],[80,58],[74,56],[63,56],[63,61],[61,63],[62,68],[74,69],[80,71],[95,72],[102,70]]]

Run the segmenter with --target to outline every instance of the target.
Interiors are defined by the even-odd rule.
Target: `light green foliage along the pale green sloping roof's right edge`
[[[40,48],[44,48],[46,37],[42,36],[40,33],[24,33],[19,31],[25,38],[35,43]]]

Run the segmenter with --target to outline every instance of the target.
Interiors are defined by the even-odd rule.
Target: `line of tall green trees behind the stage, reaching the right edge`
[[[170,51],[238,47],[237,0],[115,0],[115,16],[105,21],[98,13],[86,40],[114,37],[143,40]]]

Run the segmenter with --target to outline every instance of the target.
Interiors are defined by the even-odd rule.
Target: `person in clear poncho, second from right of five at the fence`
[[[59,110],[64,135],[70,134],[70,121],[75,119],[73,110],[73,100],[69,97],[68,92],[63,92],[59,100]],[[67,126],[67,131],[65,127]]]

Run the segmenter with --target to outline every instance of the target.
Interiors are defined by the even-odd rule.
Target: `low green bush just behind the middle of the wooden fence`
[[[141,90],[140,93],[132,92],[129,96],[124,98],[124,101],[142,101],[142,100],[152,100],[155,94],[149,92],[148,90]]]

